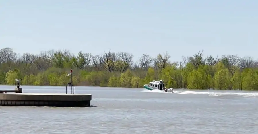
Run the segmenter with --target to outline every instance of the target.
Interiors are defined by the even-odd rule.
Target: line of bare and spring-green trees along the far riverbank
[[[151,57],[143,54],[138,61],[127,52],[102,55],[73,55],[68,50],[42,51],[18,55],[12,48],[0,50],[0,84],[65,86],[73,69],[76,86],[141,88],[162,79],[166,87],[188,89],[258,90],[258,61],[252,57],[223,55],[204,57],[203,51],[171,62],[168,53]]]

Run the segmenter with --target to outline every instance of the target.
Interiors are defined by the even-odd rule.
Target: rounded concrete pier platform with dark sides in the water
[[[7,93],[0,94],[2,106],[89,107],[91,94]]]

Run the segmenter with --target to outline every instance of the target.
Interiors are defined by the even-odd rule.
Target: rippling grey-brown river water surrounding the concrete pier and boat
[[[0,86],[12,90],[14,86]],[[22,86],[65,93],[65,87]],[[258,133],[258,92],[75,87],[92,94],[88,108],[0,107],[1,134]]]

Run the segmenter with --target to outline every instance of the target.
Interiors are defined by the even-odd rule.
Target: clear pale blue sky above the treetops
[[[0,1],[0,49],[258,59],[256,0]]]

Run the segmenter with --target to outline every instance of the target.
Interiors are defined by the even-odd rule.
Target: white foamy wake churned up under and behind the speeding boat
[[[161,90],[143,90],[142,92],[152,92],[152,93],[168,93]],[[176,91],[175,94],[207,94],[209,96],[222,96],[222,95],[235,95],[242,97],[258,97],[258,92],[197,92],[197,91]],[[170,93],[171,94],[171,93]],[[173,93],[172,93],[173,94]]]

